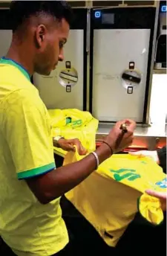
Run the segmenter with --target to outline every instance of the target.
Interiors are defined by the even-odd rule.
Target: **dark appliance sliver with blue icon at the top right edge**
[[[159,29],[154,68],[166,69],[166,1],[160,2]]]

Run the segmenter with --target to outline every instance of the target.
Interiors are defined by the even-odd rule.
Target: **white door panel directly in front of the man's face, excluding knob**
[[[76,108],[83,110],[83,30],[70,31],[64,51],[65,60],[59,63],[56,70],[52,71],[49,76],[34,74],[33,83],[39,89],[39,94],[48,109]],[[68,81],[68,79],[66,79],[68,78],[67,75],[63,73],[61,77],[59,77],[60,72],[65,70],[65,62],[67,61],[71,63],[71,68],[73,68],[74,73],[77,72],[77,78],[74,76],[69,80],[75,82],[75,85],[71,86],[71,92],[66,89],[66,86],[62,86],[60,83],[60,80],[62,80],[61,77],[63,77],[64,81]]]

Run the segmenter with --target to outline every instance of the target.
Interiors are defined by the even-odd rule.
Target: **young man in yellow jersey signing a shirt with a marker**
[[[0,60],[0,235],[16,255],[57,255],[68,243],[60,196],[128,147],[135,123],[117,122],[94,153],[56,169],[48,111],[30,77],[50,74],[63,60],[71,8],[66,1],[13,1],[10,10],[13,39]],[[124,123],[128,132],[118,147]],[[85,154],[77,140],[58,144],[65,150],[76,144]]]

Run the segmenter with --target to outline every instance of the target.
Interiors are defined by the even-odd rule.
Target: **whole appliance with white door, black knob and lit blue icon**
[[[145,124],[156,7],[91,11],[90,111]]]

